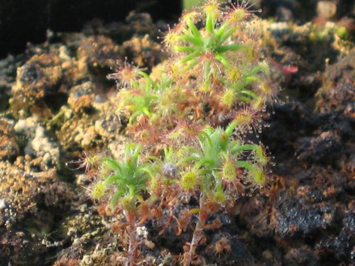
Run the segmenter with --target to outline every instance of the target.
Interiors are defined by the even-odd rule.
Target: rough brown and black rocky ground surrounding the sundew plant
[[[292,18],[302,7],[289,2],[278,12]],[[333,14],[322,2],[314,16],[334,22],[261,21],[263,54],[283,89],[261,134],[275,156],[273,182],[206,233],[207,264],[355,263],[354,44],[339,26],[344,3]],[[126,21],[91,23],[0,61],[0,265],[119,265],[118,236],[87,196],[92,179],[78,158],[119,153],[126,141],[106,79],[115,61],[151,70],[165,58],[148,14]],[[188,232],[154,230],[146,225],[147,265],[173,265]]]

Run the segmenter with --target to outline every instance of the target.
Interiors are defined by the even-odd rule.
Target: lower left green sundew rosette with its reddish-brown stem
[[[101,167],[107,177],[98,180],[91,189],[92,198],[102,199],[109,194],[109,209],[119,209],[124,215],[124,231],[127,238],[127,262],[134,265],[138,257],[139,241],[137,227],[141,221],[142,206],[146,205],[143,195],[149,179],[155,177],[153,168],[140,160],[141,145],[127,144],[120,160],[102,157]]]

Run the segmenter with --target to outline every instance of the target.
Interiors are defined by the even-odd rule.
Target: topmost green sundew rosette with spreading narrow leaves
[[[196,77],[202,77],[202,84],[209,87],[233,67],[233,62],[229,60],[229,57],[233,58],[233,52],[244,51],[252,55],[251,45],[230,41],[231,36],[241,30],[235,26],[236,18],[233,16],[240,11],[245,14],[240,16],[239,21],[244,21],[253,13],[246,4],[238,4],[223,12],[221,2],[211,0],[182,16],[181,22],[175,26],[176,30],[171,29],[165,38],[168,48],[178,57],[182,74],[192,68],[200,70],[195,73]],[[198,13],[201,15],[198,16]],[[195,21],[200,21],[200,17],[204,18],[204,26],[197,28]],[[193,18],[198,19],[194,21]]]

